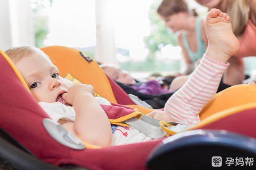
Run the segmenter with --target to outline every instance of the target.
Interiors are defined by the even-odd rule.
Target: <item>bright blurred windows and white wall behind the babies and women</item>
[[[64,45],[135,78],[182,72],[177,38],[157,14],[161,0],[1,0],[0,48]],[[187,0],[204,17],[207,8]],[[248,57],[246,57],[248,58]]]

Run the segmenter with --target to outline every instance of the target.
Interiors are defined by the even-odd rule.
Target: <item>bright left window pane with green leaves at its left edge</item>
[[[32,8],[38,48],[64,45],[94,56],[94,0],[32,0]]]

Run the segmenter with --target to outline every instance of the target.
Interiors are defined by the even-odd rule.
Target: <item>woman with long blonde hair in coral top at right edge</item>
[[[231,18],[232,29],[239,38],[241,47],[231,57],[223,82],[228,85],[241,84],[244,80],[243,57],[256,56],[256,0],[195,0],[200,5],[218,8]]]

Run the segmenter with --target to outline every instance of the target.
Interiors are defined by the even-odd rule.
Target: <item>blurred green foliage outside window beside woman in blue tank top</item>
[[[160,51],[165,45],[177,45],[176,35],[172,32],[172,30],[166,28],[165,23],[157,14],[157,8],[160,3],[161,1],[154,0],[149,9],[148,18],[151,25],[151,34],[144,38],[145,46],[149,51],[145,61],[121,62],[119,63],[120,68],[128,71],[170,71],[173,73],[179,71],[179,60],[156,59],[156,52]]]

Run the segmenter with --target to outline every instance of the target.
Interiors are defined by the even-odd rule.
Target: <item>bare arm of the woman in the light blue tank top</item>
[[[194,71],[195,66],[194,66],[193,62],[189,59],[189,55],[188,55],[186,48],[183,44],[182,34],[178,35],[178,44],[180,45],[180,47],[182,49],[183,57],[186,62],[186,70],[184,71],[184,75],[188,75]]]

